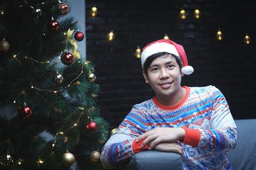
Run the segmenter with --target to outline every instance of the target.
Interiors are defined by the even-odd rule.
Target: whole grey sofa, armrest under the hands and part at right
[[[256,119],[235,120],[238,142],[228,153],[234,170],[256,170]],[[127,164],[127,170],[181,170],[182,159],[172,152],[144,151],[135,154]]]

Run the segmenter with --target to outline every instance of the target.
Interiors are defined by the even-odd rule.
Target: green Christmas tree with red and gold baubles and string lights
[[[0,3],[0,169],[101,169],[109,125],[68,1]]]

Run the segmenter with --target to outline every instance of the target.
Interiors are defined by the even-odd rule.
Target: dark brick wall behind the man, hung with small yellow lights
[[[255,61],[256,20],[250,1],[143,1],[86,0],[87,60],[95,64],[101,86],[97,103],[101,115],[115,128],[136,103],[154,96],[142,77],[140,60],[134,56],[166,33],[183,45],[195,72],[182,85],[217,86],[235,119],[256,118]],[[98,14],[90,16],[96,6]],[[181,8],[188,16],[178,17]],[[193,17],[198,8],[201,18]],[[216,39],[218,29],[223,40]],[[107,34],[114,31],[114,40]],[[245,33],[250,45],[245,45]]]

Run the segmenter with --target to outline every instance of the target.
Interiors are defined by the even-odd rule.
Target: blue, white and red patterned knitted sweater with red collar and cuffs
[[[156,98],[139,103],[124,118],[102,148],[102,165],[118,166],[147,149],[134,142],[158,128],[184,128],[183,169],[232,169],[227,154],[237,140],[236,125],[223,94],[215,86],[188,87],[176,106],[162,106]]]

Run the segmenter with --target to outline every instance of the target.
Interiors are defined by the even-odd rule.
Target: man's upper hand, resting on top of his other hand
[[[183,128],[154,128],[144,134],[140,135],[136,142],[144,140],[142,147],[149,145],[149,150],[156,147],[160,143],[177,142],[178,140],[183,141],[185,137],[185,130]]]

